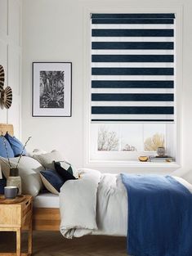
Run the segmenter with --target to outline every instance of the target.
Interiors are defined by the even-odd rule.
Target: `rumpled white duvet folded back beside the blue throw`
[[[60,232],[67,238],[87,234],[127,236],[127,191],[119,174],[83,169],[81,178],[60,189]],[[192,193],[192,185],[175,177]]]

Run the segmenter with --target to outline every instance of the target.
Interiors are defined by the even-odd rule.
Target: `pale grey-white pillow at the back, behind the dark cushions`
[[[52,150],[50,153],[42,155],[33,155],[33,159],[38,160],[44,168],[55,170],[54,161],[59,162],[64,159],[59,151]]]

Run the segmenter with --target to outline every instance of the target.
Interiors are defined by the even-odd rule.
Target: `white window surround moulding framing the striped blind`
[[[83,82],[84,82],[84,166],[87,168],[171,168],[175,170],[180,168],[182,163],[181,155],[181,92],[182,92],[182,6],[177,7],[127,7],[127,3],[123,2],[121,7],[84,7],[84,42],[83,42]],[[176,54],[175,54],[175,136],[174,136],[174,150],[176,163],[141,163],[139,161],[131,161],[125,159],[109,160],[109,159],[91,159],[90,155],[90,139],[91,139],[91,13],[175,13],[176,14]],[[117,152],[112,152],[112,155]],[[138,154],[139,152],[132,152],[129,154]],[[140,152],[141,155],[141,152]],[[146,154],[145,154],[146,155]]]

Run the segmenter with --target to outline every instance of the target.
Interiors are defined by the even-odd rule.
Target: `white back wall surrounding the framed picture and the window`
[[[23,0],[23,139],[32,135],[29,149],[57,149],[78,167],[83,166],[83,125],[85,122],[83,94],[85,80],[85,13],[97,7],[181,7],[183,5],[183,84],[181,105],[182,173],[192,169],[192,1],[191,0]],[[182,50],[182,49],[181,49]],[[32,117],[32,62],[72,61],[73,93],[71,118]],[[88,75],[88,74],[87,74]],[[181,88],[182,87],[182,88]],[[100,167],[102,168],[102,167]],[[104,168],[105,169],[105,168]],[[117,169],[117,168],[116,168]],[[109,171],[109,168],[106,168]]]

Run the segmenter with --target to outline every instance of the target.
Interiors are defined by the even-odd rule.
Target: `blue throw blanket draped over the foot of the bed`
[[[121,174],[128,198],[127,253],[192,256],[192,195],[170,176]]]

